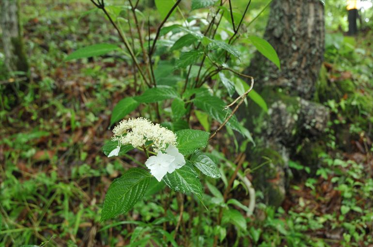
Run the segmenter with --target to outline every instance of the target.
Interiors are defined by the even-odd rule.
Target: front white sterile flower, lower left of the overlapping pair
[[[162,152],[158,152],[156,156],[149,157],[145,165],[147,168],[150,169],[150,173],[160,182],[164,175],[166,175],[167,171],[171,163],[175,160],[174,156],[169,154],[163,154]]]

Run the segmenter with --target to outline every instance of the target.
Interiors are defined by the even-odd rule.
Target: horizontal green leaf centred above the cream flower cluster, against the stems
[[[134,97],[140,103],[153,103],[165,99],[173,99],[179,97],[179,94],[169,86],[158,86],[156,88],[149,88],[140,96]]]

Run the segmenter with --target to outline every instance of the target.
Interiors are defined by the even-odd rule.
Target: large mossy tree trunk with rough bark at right
[[[257,52],[245,72],[268,105],[267,113],[253,104],[238,113],[260,136],[249,152],[251,168],[258,167],[253,184],[276,206],[285,197],[289,161],[312,149],[326,127],[328,111],[311,101],[324,58],[324,24],[320,0],[273,0],[264,39],[277,51],[281,70]]]

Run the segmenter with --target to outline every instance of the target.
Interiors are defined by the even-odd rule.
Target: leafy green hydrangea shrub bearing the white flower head
[[[113,44],[95,44],[74,51],[65,60],[99,56],[113,51],[123,51],[124,55],[130,57],[135,73],[135,91],[142,93],[122,99],[112,111],[110,125],[124,119],[140,106],[142,110],[139,112],[145,118],[122,121],[113,129],[114,137],[105,144],[103,151],[108,157],[112,157],[127,155],[132,149],[138,149],[147,156],[145,164],[140,164],[150,170],[149,173],[147,169],[131,168],[112,182],[105,197],[101,220],[130,210],[148,190],[152,175],[158,183],[164,182],[175,191],[192,193],[204,204],[199,174],[216,179],[220,177],[220,171],[217,164],[200,149],[206,148],[208,142],[224,126],[253,141],[249,130],[234,116],[246,96],[249,95],[266,110],[261,96],[258,93],[250,94],[253,92],[254,79],[233,69],[234,64],[240,62],[240,52],[233,43],[241,41],[253,44],[280,68],[278,56],[272,46],[259,37],[247,36],[241,31],[250,1],[247,2],[244,13],[238,15],[233,12],[231,1],[224,4],[224,1],[217,0],[193,0],[192,11],[207,7],[215,9],[215,13],[207,15],[206,23],[206,17],[191,15],[185,19],[179,6],[181,0],[156,0],[155,5],[163,21],[157,27],[155,35],[150,33],[150,21],[141,14],[137,3],[129,1],[129,5],[114,6],[108,5],[104,0],[92,2],[109,19],[125,51]],[[183,20],[167,25],[170,16],[177,12]],[[133,18],[133,23],[130,18]],[[141,29],[139,18],[148,22],[147,33]],[[202,23],[206,23],[206,27],[193,24],[200,19],[203,20]],[[135,25],[136,36],[132,33],[131,26],[130,35],[124,34],[125,22]],[[233,32],[230,31],[231,28]],[[218,37],[217,34],[222,31],[228,31],[230,35],[224,39],[221,35]],[[178,59],[163,59],[170,54],[176,55]],[[142,64],[139,62],[140,58],[143,60]],[[249,79],[250,86],[240,77]],[[212,79],[215,85],[210,88],[209,81]],[[211,89],[220,86],[224,88],[224,93],[211,93]],[[226,104],[221,99],[225,97],[225,92],[230,96],[237,92],[240,96],[231,104]],[[236,106],[232,110],[233,105]],[[210,129],[210,118],[220,123],[214,133],[189,128],[194,107],[198,109],[196,116],[204,129]],[[224,202],[226,197],[219,200]],[[239,202],[234,201],[234,204],[237,203]],[[226,211],[226,214],[230,212],[239,215],[234,211]],[[219,216],[219,224],[220,220],[225,221],[225,217]],[[246,223],[240,224],[246,230]]]

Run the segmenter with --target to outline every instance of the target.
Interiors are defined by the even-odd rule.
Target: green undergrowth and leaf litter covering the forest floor
[[[265,6],[255,4],[257,9]],[[108,159],[101,152],[111,137],[112,108],[124,95],[136,94],[129,57],[109,53],[102,59],[63,62],[65,54],[92,45],[92,40],[118,42],[108,21],[86,12],[91,9],[82,1],[38,1],[22,7],[31,81],[0,76],[7,81],[0,84],[0,246],[212,246],[216,235],[220,246],[373,244],[372,31],[356,38],[327,35],[315,100],[331,110],[331,121],[323,148],[315,145],[316,151],[307,151],[318,161],[312,168],[315,175],[309,176],[304,161],[289,164],[296,178],[280,207],[265,205],[264,192],[257,190],[256,210],[247,216],[249,195],[238,179],[224,202],[234,167],[221,165],[221,181],[203,177],[208,211],[195,196],[181,199],[164,183],[151,180],[151,190],[129,214],[100,222],[110,182],[146,157],[130,151],[123,159]],[[156,21],[151,10],[143,11]],[[263,33],[262,23],[255,22],[252,32]],[[251,53],[242,60],[250,58]],[[195,122],[207,119],[198,114]],[[234,139],[221,139],[209,157],[226,164],[225,155],[240,147]],[[248,162],[243,168],[252,168],[250,180],[258,172]],[[189,209],[182,220],[180,200]],[[166,202],[170,207],[164,207]],[[175,237],[177,225],[189,237]]]

